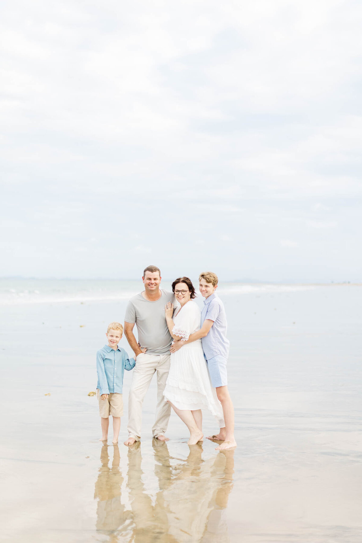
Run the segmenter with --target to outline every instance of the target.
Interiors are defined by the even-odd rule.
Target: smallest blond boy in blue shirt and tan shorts
[[[97,351],[97,399],[99,403],[100,425],[102,437],[99,441],[108,439],[109,416],[113,417],[113,445],[118,443],[120,418],[123,415],[123,374],[135,367],[134,358],[128,354],[118,342],[122,338],[123,326],[111,323],[107,329],[108,345]]]

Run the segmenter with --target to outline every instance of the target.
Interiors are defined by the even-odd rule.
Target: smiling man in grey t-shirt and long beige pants
[[[133,445],[141,439],[142,403],[157,371],[156,419],[152,428],[154,438],[168,441],[164,436],[170,418],[171,406],[164,400],[163,390],[170,369],[170,336],[164,306],[174,301],[172,292],[160,289],[161,272],[156,266],[143,271],[144,291],[131,298],[124,317],[124,333],[136,355],[128,402],[128,439],[125,445]],[[138,342],[133,329],[137,326]],[[141,351],[141,347],[146,352]]]

